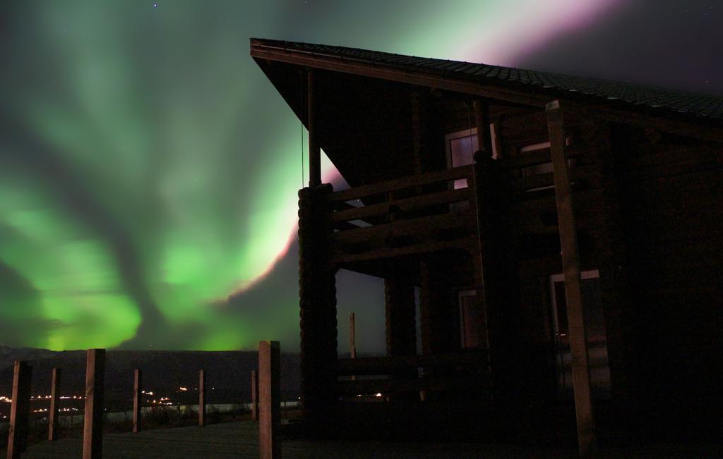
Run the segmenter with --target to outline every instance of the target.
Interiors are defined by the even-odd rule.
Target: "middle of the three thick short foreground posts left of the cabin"
[[[106,349],[88,349],[85,359],[85,412],[83,414],[83,459],[103,455],[103,378]]]

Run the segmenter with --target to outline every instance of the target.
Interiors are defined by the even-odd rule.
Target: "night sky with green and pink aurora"
[[[298,349],[305,134],[249,37],[723,95],[722,14],[672,0],[3,1],[0,344]],[[340,351],[352,310],[359,351],[383,351],[382,284],[337,282]]]

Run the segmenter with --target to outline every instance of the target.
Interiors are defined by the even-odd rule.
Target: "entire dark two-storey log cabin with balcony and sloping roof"
[[[309,425],[582,453],[717,438],[723,97],[256,38],[251,56],[309,131]],[[385,357],[338,358],[339,269],[384,279]]]

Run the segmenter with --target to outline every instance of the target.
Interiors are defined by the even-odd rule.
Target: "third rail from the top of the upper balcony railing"
[[[405,236],[429,233],[440,229],[466,227],[474,221],[471,211],[448,212],[418,219],[375,224],[372,227],[347,229],[333,233],[335,242],[367,242],[375,237]]]

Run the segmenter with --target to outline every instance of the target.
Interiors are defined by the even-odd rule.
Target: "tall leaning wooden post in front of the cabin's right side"
[[[578,258],[573,196],[570,191],[565,152],[565,125],[562,121],[562,109],[559,101],[549,102],[546,111],[552,152],[552,175],[555,180],[557,224],[560,229],[560,248],[562,248],[562,271],[565,273],[565,300],[568,305],[578,449],[581,455],[586,455],[591,453],[595,447],[595,422],[592,412],[587,338],[580,292],[580,260]]]

